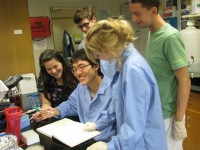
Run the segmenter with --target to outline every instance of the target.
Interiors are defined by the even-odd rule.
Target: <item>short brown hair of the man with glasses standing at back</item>
[[[74,23],[79,24],[83,19],[92,20],[94,9],[92,6],[78,8],[74,14]]]

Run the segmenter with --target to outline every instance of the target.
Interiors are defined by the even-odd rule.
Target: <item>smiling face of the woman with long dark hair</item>
[[[56,79],[60,79],[63,73],[62,63],[57,61],[56,59],[51,59],[44,63],[44,67],[49,75]]]

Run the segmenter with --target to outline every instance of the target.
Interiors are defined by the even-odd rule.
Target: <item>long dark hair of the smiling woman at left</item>
[[[66,93],[70,95],[71,92],[75,89],[76,85],[78,84],[78,80],[74,77],[70,67],[67,66],[63,57],[58,52],[52,49],[45,50],[43,53],[40,54],[39,58],[40,76],[42,77],[44,90],[49,91],[50,88],[49,83],[53,78],[51,75],[47,73],[44,67],[44,63],[52,59],[55,59],[62,64],[63,67],[62,79],[63,79],[64,90],[66,90]]]

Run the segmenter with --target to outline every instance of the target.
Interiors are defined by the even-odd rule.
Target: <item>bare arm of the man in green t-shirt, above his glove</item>
[[[175,71],[178,80],[177,110],[175,121],[182,121],[190,94],[190,78],[188,68],[184,67]]]

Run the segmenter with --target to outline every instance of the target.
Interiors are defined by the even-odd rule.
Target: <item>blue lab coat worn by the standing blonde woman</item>
[[[116,62],[108,68],[115,70],[109,76],[113,103],[100,114],[97,130],[116,121],[117,135],[108,150],[167,150],[158,86],[150,66],[132,44],[121,60],[120,71]]]

